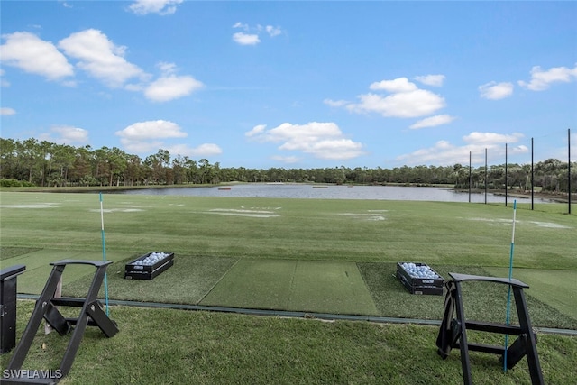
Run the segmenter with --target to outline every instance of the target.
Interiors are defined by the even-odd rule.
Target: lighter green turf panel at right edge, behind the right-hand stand
[[[508,277],[508,269],[485,268],[485,270],[496,277]],[[513,269],[513,278],[529,285],[527,295],[577,319],[577,307],[573,306],[577,298],[577,271]]]

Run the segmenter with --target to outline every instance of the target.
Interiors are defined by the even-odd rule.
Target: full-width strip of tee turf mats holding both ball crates
[[[83,255],[98,260],[96,254]],[[50,261],[72,256],[78,258],[77,253],[32,250],[4,259],[3,265],[30,266],[18,278],[18,291],[40,294],[50,273]],[[178,254],[175,265],[154,280],[126,280],[124,263],[133,257],[117,258],[108,267],[110,299],[429,320],[443,317],[444,297],[408,293],[394,277],[395,263],[254,260]],[[503,276],[499,271],[492,274],[490,269],[475,266],[435,265],[435,270],[445,277],[449,271]],[[526,294],[533,325],[577,329],[577,317],[563,307],[563,301],[561,304],[557,304],[560,299],[554,301],[557,292],[540,289],[538,277],[518,276],[521,272],[522,269],[515,270],[514,275],[530,285]],[[93,269],[89,267],[70,266],[63,275],[62,295],[86,296],[92,274]],[[500,286],[477,287],[471,283],[465,289],[469,290],[467,301],[472,301],[468,316],[489,322],[505,319],[507,293],[499,291]],[[99,296],[104,298],[104,288]],[[570,301],[570,297],[563,299]],[[486,316],[490,318],[485,319]]]

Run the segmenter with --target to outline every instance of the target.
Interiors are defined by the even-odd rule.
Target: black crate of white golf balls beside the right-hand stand
[[[397,279],[411,294],[444,295],[444,278],[426,263],[397,262]]]

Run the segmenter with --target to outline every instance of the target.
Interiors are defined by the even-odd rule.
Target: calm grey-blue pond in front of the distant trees
[[[196,188],[145,188],[124,190],[122,194],[139,195],[179,195],[196,197],[286,197],[316,199],[381,199],[381,200],[423,200],[437,202],[469,202],[468,191],[456,191],[453,188],[437,187],[401,187],[401,186],[336,186],[282,183],[230,184],[218,187]],[[517,202],[530,203],[526,197],[508,197]],[[484,203],[485,193],[472,193],[471,202]],[[505,204],[505,196],[487,194],[488,203]],[[549,203],[548,200],[535,198],[535,203]]]

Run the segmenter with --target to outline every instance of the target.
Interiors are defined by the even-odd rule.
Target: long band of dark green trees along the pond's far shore
[[[218,184],[239,182],[316,182],[355,184],[449,184],[455,188],[508,188],[527,190],[534,186],[545,191],[566,193],[569,164],[556,159],[530,164],[500,164],[471,169],[468,165],[402,166],[393,169],[334,167],[319,169],[268,170],[244,167],[224,168],[219,162],[172,156],[168,150],[142,160],[116,147],[93,149],[39,141],[0,138],[0,179],[41,187],[151,186]],[[507,170],[507,173],[505,172]],[[572,192],[577,189],[577,163],[571,165]]]

